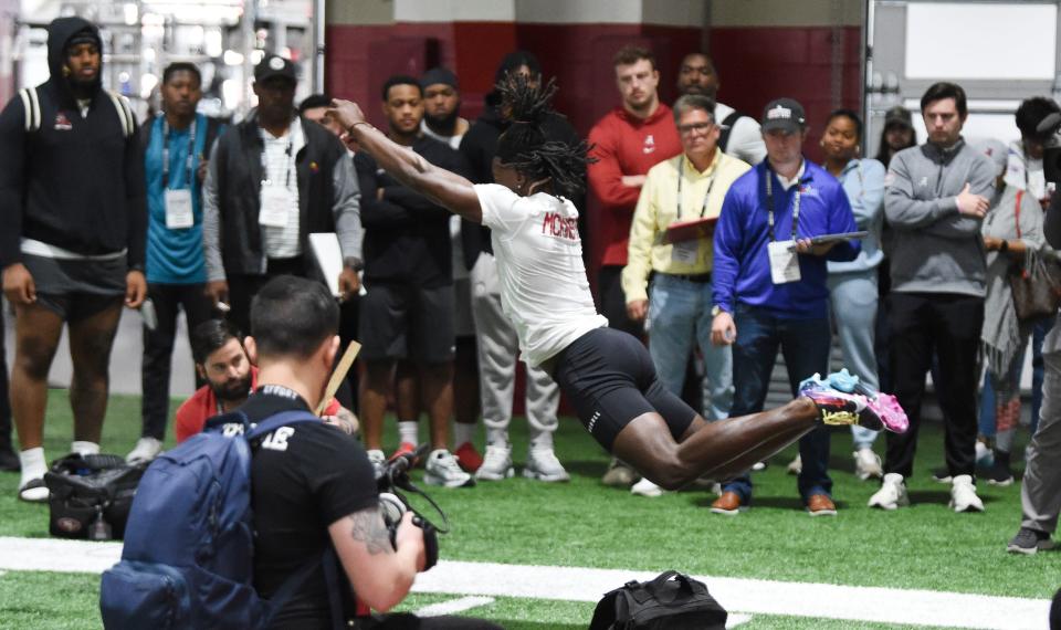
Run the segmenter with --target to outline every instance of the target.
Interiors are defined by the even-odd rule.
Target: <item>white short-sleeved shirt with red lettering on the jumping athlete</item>
[[[497,183],[477,183],[475,193],[491,229],[501,307],[516,328],[523,359],[538,367],[607,326],[589,293],[575,204],[545,192],[519,197]]]

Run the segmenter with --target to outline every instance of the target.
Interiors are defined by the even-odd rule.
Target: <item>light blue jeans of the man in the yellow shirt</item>
[[[692,282],[658,273],[649,297],[649,354],[660,382],[681,396],[685,366],[695,342],[704,358],[703,416],[708,421],[729,416],[733,406],[733,354],[711,343],[710,282]]]

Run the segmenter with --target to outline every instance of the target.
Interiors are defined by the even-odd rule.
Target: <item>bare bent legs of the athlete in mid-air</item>
[[[815,403],[798,398],[779,409],[716,422],[697,416],[679,443],[659,413],[644,413],[619,432],[612,452],[660,486],[674,490],[705,473],[738,473],[811,431],[817,420]]]

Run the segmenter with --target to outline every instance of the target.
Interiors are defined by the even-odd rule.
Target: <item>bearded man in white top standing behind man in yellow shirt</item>
[[[722,128],[718,148],[755,166],[766,157],[766,145],[759,123],[753,116],[742,114],[733,107],[718,103],[718,71],[715,62],[704,53],[690,53],[677,69],[677,91],[684,94],[700,94],[715,102],[715,120]]]

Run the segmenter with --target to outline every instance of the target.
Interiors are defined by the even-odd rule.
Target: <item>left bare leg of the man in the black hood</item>
[[[11,411],[23,451],[44,443],[48,370],[62,333],[63,319],[55,312],[39,304],[15,307]]]

